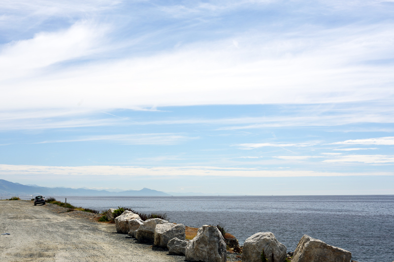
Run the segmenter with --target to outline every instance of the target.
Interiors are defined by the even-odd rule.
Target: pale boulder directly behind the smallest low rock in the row
[[[186,228],[182,224],[164,223],[156,225],[154,233],[154,244],[166,247],[169,240],[176,237],[181,240],[186,238]]]

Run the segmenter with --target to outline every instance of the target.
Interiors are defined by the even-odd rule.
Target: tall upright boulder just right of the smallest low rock
[[[226,262],[226,242],[214,226],[202,226],[195,238],[186,246],[185,260],[203,262]]]

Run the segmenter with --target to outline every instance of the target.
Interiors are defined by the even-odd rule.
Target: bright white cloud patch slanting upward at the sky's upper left
[[[32,77],[33,69],[88,57],[98,52],[99,43],[106,30],[107,27],[103,25],[92,25],[85,21],[78,22],[66,30],[40,32],[32,39],[11,42],[1,49],[0,70],[3,74],[0,81],[21,76]],[[35,92],[38,88],[35,86]],[[31,88],[24,90],[33,95],[34,90]]]

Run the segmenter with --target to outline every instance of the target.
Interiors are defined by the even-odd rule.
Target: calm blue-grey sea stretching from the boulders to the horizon
[[[57,200],[64,202],[65,197]],[[360,262],[394,261],[394,196],[67,197],[97,210],[125,206],[166,213],[189,227],[222,225],[242,245],[272,232],[294,251],[303,234],[352,252]]]

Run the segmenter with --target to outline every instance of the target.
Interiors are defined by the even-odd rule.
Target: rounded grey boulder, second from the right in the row
[[[242,248],[242,262],[261,262],[263,249],[267,262],[282,262],[286,258],[286,246],[276,240],[273,233],[260,232],[246,239]]]

